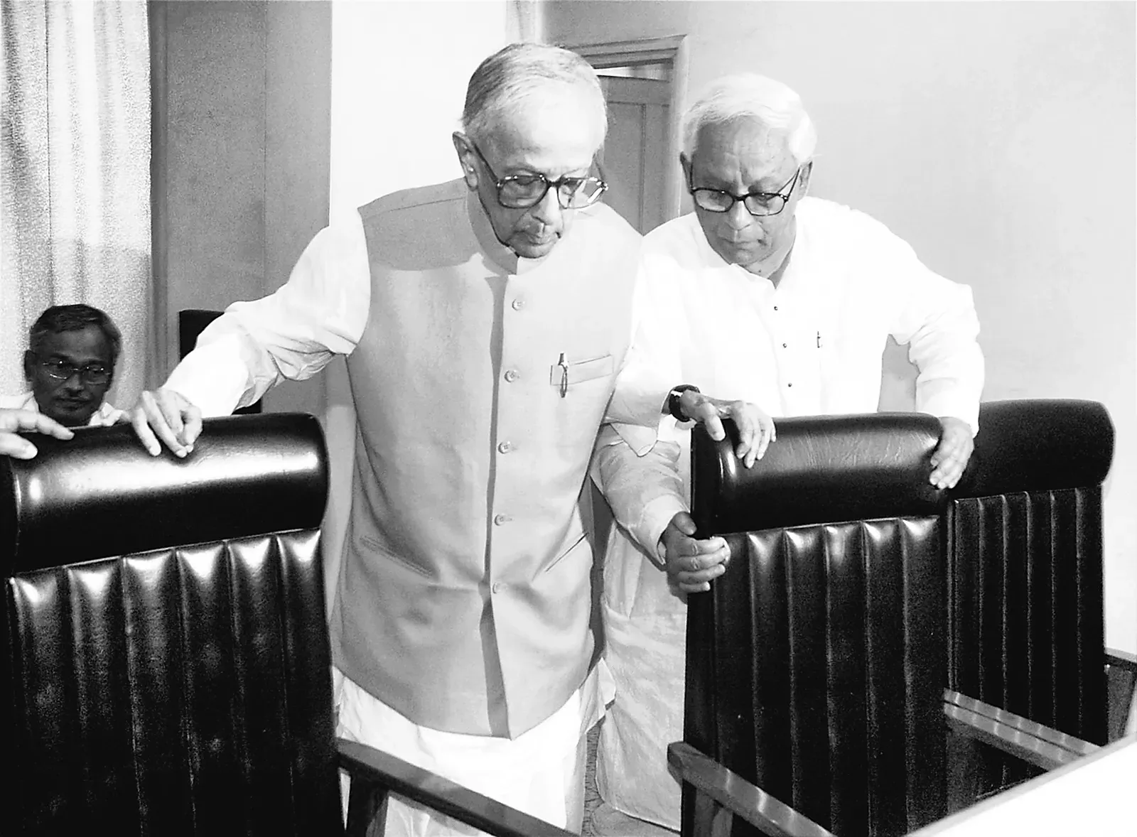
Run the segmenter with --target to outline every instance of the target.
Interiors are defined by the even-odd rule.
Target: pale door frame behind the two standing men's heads
[[[582,43],[566,49],[582,56],[595,69],[608,67],[636,67],[645,64],[663,64],[670,68],[671,101],[667,105],[666,156],[672,161],[671,174],[664,181],[664,221],[680,214],[683,196],[683,179],[679,168],[679,150],[682,146],[680,117],[687,93],[688,48],[687,35],[642,38],[633,41],[606,41]]]

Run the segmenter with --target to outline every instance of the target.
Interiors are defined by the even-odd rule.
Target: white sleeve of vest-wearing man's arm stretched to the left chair
[[[284,379],[304,380],[335,355],[350,354],[371,305],[363,222],[321,230],[280,290],[234,303],[198,338],[165,387],[202,415],[227,415]]]

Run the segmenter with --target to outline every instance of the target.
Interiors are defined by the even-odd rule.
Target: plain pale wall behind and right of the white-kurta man
[[[1137,649],[1134,3],[561,0],[545,25],[686,34],[691,90],[788,83],[820,133],[813,192],[972,287],[985,399],[1106,405],[1106,641]]]

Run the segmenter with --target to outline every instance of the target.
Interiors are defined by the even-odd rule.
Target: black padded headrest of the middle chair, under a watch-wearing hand
[[[928,482],[939,421],[919,413],[778,420],[778,441],[753,467],[733,454],[738,431],[691,433],[692,516],[700,533],[938,514]]]

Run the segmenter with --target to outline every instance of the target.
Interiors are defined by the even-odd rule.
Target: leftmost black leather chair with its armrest
[[[566,835],[334,740],[315,418],[215,418],[192,455],[130,426],[0,457],[5,834],[349,834],[389,792],[496,835]]]

